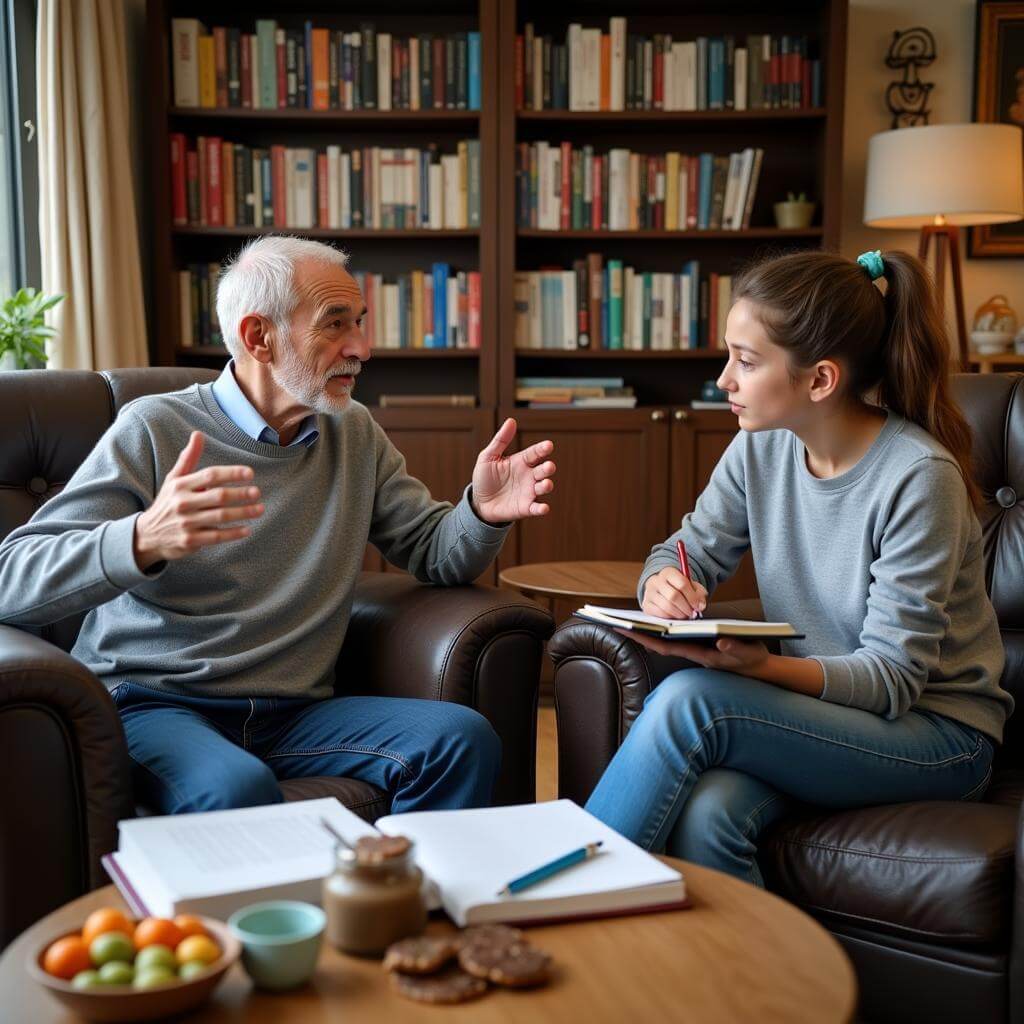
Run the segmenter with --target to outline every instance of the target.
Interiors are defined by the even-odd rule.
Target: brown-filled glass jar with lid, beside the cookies
[[[404,836],[371,836],[338,845],[334,871],[324,880],[327,937],[335,948],[379,956],[427,924],[423,872]]]

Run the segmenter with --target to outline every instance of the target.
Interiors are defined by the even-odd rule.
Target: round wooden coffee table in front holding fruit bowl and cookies
[[[210,1001],[182,1020],[436,1024],[456,1014],[473,1024],[829,1024],[853,1019],[856,984],[850,962],[816,922],[777,896],[726,874],[666,859],[685,873],[692,907],[531,928],[535,944],[554,956],[555,974],[544,988],[496,989],[453,1009],[421,1006],[391,991],[379,962],[345,956],[325,944],[316,974],[303,988],[263,994],[236,965]],[[44,942],[79,927],[99,906],[125,909],[117,890],[108,886],[55,910],[7,947],[0,957],[4,1020],[79,1020],[28,977],[25,963]],[[446,919],[429,925],[437,934],[452,930]]]

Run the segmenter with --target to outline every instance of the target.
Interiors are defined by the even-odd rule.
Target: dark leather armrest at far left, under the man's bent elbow
[[[124,730],[105,688],[59,647],[0,626],[0,946],[105,885],[99,858],[133,814]]]

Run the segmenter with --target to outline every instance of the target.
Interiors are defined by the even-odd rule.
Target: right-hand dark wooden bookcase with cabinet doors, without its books
[[[566,38],[569,23],[609,32],[625,15],[628,32],[671,33],[673,38],[748,33],[795,33],[817,45],[821,101],[803,109],[569,111],[520,109],[516,101],[516,36],[531,23],[537,35]],[[839,246],[846,68],[847,0],[797,0],[766,6],[758,0],[570,0],[552,7],[539,0],[501,5],[499,35],[499,419],[514,415],[522,443],[552,437],[559,466],[558,514],[517,524],[501,566],[574,558],[643,559],[655,540],[674,529],[707,482],[735,434],[726,412],[694,411],[703,381],[717,377],[720,351],[543,350],[516,346],[515,275],[545,266],[567,268],[587,253],[621,259],[638,269],[676,271],[685,260],[733,273],[767,252]],[[738,45],[738,44],[737,44]],[[642,154],[669,150],[728,153],[765,151],[750,226],[740,230],[541,230],[517,218],[516,147],[548,140],[612,146]],[[812,226],[781,230],[771,204],[787,191],[817,200]],[[556,411],[517,408],[516,378],[618,376],[633,386],[633,410]],[[554,503],[553,503],[554,507]],[[600,508],[600,517],[593,510]],[[751,596],[756,581],[749,559],[718,591],[723,599]],[[573,605],[558,604],[556,620]]]

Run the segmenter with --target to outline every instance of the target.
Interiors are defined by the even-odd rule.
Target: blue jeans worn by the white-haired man
[[[283,779],[344,775],[385,790],[393,813],[481,807],[501,740],[461,705],[407,697],[182,697],[122,683],[113,692],[136,794],[178,814],[282,801]]]

